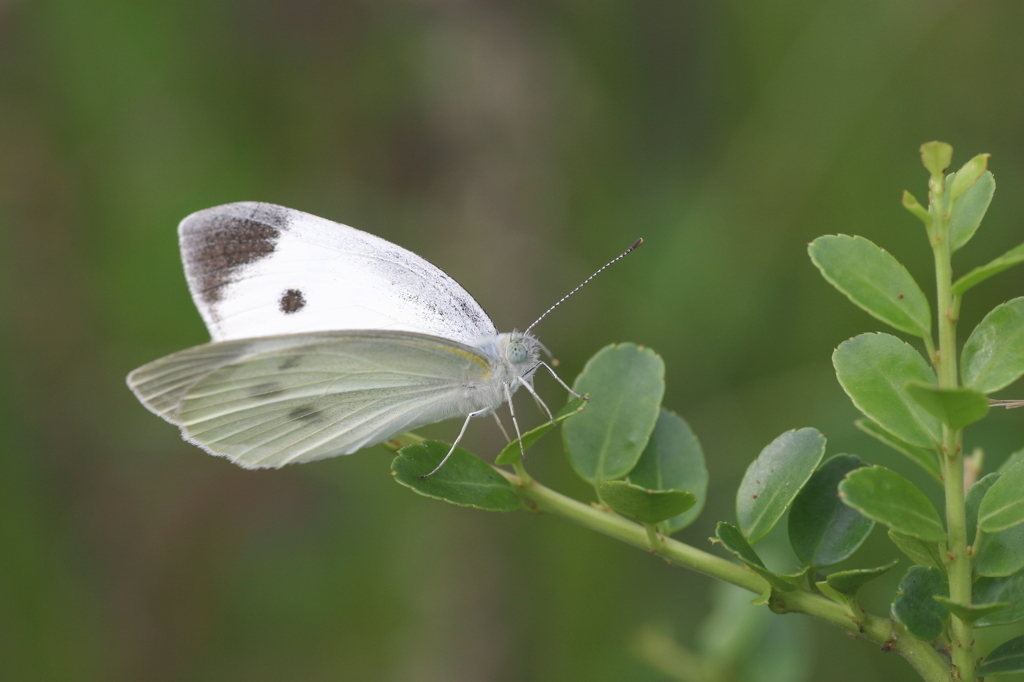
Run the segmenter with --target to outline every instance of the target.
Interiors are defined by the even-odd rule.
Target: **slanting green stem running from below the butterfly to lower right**
[[[751,570],[721,557],[691,547],[672,538],[660,541],[658,549],[652,550],[647,529],[610,510],[566,498],[545,487],[536,480],[521,481],[514,474],[497,469],[508,478],[516,491],[535,511],[544,511],[597,530],[615,540],[652,552],[671,563],[691,568],[698,572],[731,583],[756,594],[763,594],[768,584]],[[806,613],[826,623],[843,628],[855,637],[863,637],[877,642],[886,650],[896,651],[906,658],[914,670],[928,682],[947,682],[949,665],[928,642],[913,637],[896,637],[893,624],[864,613],[854,615],[850,609],[820,595],[803,590],[783,593],[773,597],[772,609],[779,613]]]

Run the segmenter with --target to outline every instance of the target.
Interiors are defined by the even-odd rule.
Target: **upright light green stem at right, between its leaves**
[[[955,388],[956,318],[959,299],[952,294],[952,265],[949,250],[949,216],[942,210],[944,180],[931,182],[929,211],[932,214],[935,254],[936,313],[939,327],[939,348],[935,354],[935,370],[942,388]],[[949,576],[949,598],[962,604],[971,600],[971,557],[967,553],[967,517],[964,505],[964,454],[958,429],[942,427],[942,478],[946,497],[946,530],[949,534],[946,571]],[[973,682],[974,631],[970,623],[951,616],[950,632],[954,679]]]

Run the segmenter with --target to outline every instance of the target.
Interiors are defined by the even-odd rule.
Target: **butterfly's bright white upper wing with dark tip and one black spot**
[[[188,289],[213,341],[364,329],[471,344],[497,333],[439,268],[308,213],[226,204],[186,217],[178,237]]]

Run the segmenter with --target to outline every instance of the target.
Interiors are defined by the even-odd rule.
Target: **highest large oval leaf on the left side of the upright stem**
[[[826,235],[808,247],[828,283],[882,322],[927,337],[932,312],[921,287],[889,252],[863,237]]]

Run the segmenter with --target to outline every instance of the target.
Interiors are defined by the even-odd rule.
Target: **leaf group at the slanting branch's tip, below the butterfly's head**
[[[662,358],[631,343],[607,346],[590,359],[573,390],[589,401],[573,398],[554,422],[524,433],[523,451],[565,422],[562,439],[569,464],[594,486],[601,502],[660,534],[691,524],[703,507],[708,470],[689,425],[660,406]],[[438,441],[403,447],[392,465],[396,480],[421,495],[464,507],[487,511],[522,507],[506,476],[462,449],[456,449],[437,473],[420,478],[449,449]],[[514,440],[496,464],[520,465],[521,452]]]

